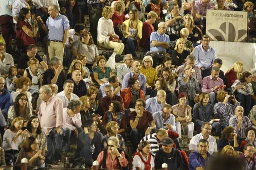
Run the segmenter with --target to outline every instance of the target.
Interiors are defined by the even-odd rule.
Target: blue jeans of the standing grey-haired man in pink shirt
[[[47,140],[47,152],[45,154],[45,157],[52,161],[59,160],[61,158],[60,153],[62,151],[62,135],[60,135],[55,131],[55,127],[50,131],[50,134],[46,136]],[[63,129],[61,128],[62,132]]]

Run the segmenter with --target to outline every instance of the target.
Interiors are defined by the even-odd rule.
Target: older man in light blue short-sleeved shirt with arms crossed
[[[169,35],[165,34],[167,25],[164,22],[158,24],[158,31],[150,35],[150,51],[164,51],[170,48]]]

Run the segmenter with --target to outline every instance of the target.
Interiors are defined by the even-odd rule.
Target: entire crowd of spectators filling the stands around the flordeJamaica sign
[[[79,1],[30,1],[1,1],[0,170],[60,164],[70,144],[87,168],[206,170],[225,156],[255,169],[256,71],[236,61],[224,74],[204,27],[205,9],[255,17],[252,2],[87,0],[86,31]]]

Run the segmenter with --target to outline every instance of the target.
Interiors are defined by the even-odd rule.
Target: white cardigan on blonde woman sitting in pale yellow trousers
[[[113,21],[111,19],[107,20],[105,17],[101,17],[98,21],[97,32],[97,40],[99,42],[103,41],[104,44],[108,44],[110,36],[107,36],[107,34],[115,34]]]

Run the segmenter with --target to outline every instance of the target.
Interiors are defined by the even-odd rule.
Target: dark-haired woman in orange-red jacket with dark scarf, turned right
[[[124,101],[124,108],[135,109],[136,100],[142,98],[145,100],[144,92],[139,88],[139,79],[136,77],[131,77],[128,80],[128,88],[124,88],[121,92],[121,97]]]

